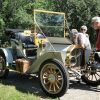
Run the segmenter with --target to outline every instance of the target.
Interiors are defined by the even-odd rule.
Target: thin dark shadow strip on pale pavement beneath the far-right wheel
[[[84,82],[79,81],[70,81],[70,89],[80,89],[80,90],[86,90],[86,91],[94,91],[94,92],[100,92],[100,88],[98,87],[92,87],[89,85],[86,85]]]

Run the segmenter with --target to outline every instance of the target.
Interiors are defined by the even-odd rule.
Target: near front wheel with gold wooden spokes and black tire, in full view
[[[65,67],[55,59],[42,63],[39,70],[40,86],[49,97],[61,97],[69,88],[69,76]]]

